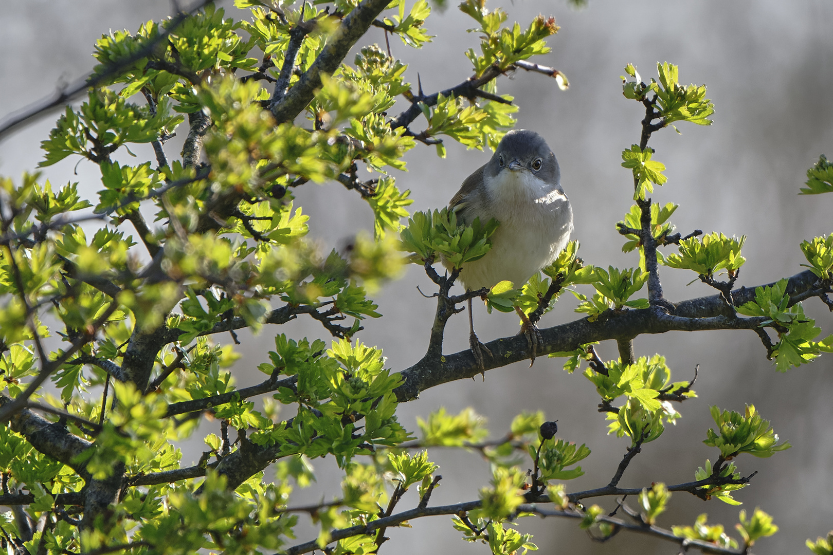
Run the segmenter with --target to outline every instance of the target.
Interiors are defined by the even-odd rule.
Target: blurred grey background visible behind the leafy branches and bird
[[[236,17],[247,16],[231,3],[220,5],[236,12]],[[499,5],[488,2],[492,8]],[[819,154],[833,156],[833,3],[590,0],[586,8],[576,10],[564,0],[515,0],[505,2],[504,7],[510,21],[522,25],[539,12],[554,15],[561,25],[561,31],[550,39],[552,52],[536,61],[565,72],[570,90],[561,92],[550,78],[525,72],[501,77],[498,90],[513,95],[521,107],[518,127],[541,132],[556,151],[562,183],[576,216],[573,236],[581,241],[586,261],[619,267],[638,263],[633,253],[621,253],[623,240],[614,225],[631,206],[631,175],[621,168],[620,153],[638,142],[643,108],[621,96],[619,76],[622,67],[632,62],[647,80],[656,76],[657,61],[668,61],[680,65],[682,82],[708,85],[716,114],[713,126],[684,123],[679,126],[682,135],[668,129],[653,136],[650,144],[656,149],[656,159],[666,164],[669,178],[654,200],[681,205],[672,220],[684,235],[695,228],[748,235],[747,262],[738,285],[759,285],[802,270],[801,240],[833,230],[833,195],[796,195],[806,169]],[[2,0],[0,116],[87,72],[94,62],[90,57],[93,44],[102,33],[121,28],[135,32],[141,22],[167,17],[170,12],[166,0]],[[465,32],[473,27],[471,20],[453,6],[435,11],[426,27],[436,39],[422,51],[396,38],[391,39],[391,47],[396,57],[410,64],[408,81],[416,83],[419,73],[425,91],[434,92],[470,75],[462,52],[477,48],[478,41],[476,33]],[[383,44],[381,30],[373,28],[364,42]],[[347,60],[352,62],[352,56]],[[38,143],[46,138],[57,115],[54,112],[0,143],[0,174],[17,181],[22,171],[37,166],[41,159]],[[424,121],[417,120],[412,128],[419,131],[422,125]],[[461,181],[489,156],[466,151],[450,140],[446,146],[445,160],[436,158],[431,147],[414,149],[407,156],[410,171],[397,175],[398,186],[412,191],[413,210],[444,206]],[[175,141],[168,143],[168,156],[176,156],[177,149]],[[141,160],[152,157],[149,148],[133,150]],[[124,161],[131,160],[124,152],[120,155]],[[86,161],[76,164],[76,158],[67,159],[47,168],[44,176],[56,185],[80,181],[82,191],[93,195],[100,188],[97,168]],[[297,203],[312,216],[312,237],[324,248],[346,245],[357,226],[372,229],[369,207],[338,184],[307,185],[297,191],[297,197]],[[688,272],[666,269],[661,277],[672,300],[712,293],[699,282],[686,286],[693,277]],[[386,317],[367,321],[366,330],[358,335],[365,343],[384,348],[395,370],[416,362],[426,346],[434,305],[421,297],[416,285],[431,290],[422,270],[412,266],[402,280],[376,295]],[[571,295],[565,295],[542,325],[576,318],[575,304]],[[818,319],[825,333],[833,331],[833,318],[820,302],[806,303],[806,311]],[[477,307],[475,316],[484,341],[516,333],[514,315],[487,316]],[[465,320],[465,314],[451,320],[446,352],[466,349]],[[256,365],[273,348],[272,338],[278,332],[326,339],[320,326],[307,321],[281,330],[267,327],[257,337],[242,334],[243,358],[234,369],[238,384],[262,380]],[[227,336],[215,339],[229,340]],[[602,344],[600,352],[602,358],[613,358],[616,345]],[[805,539],[833,528],[833,357],[780,374],[751,333],[676,333],[636,339],[637,355],[657,352],[667,356],[677,380],[690,379],[700,364],[695,388],[699,397],[678,407],[683,418],[642,449],[621,486],[694,479],[697,466],[716,457],[716,449],[701,444],[706,429],[713,425],[709,406],[742,410],[745,403],[755,404],[793,448],[769,459],[741,457],[737,461],[744,475],[759,472],[750,488],[736,494],[743,502],[741,508],[751,511],[760,505],[781,527],[774,537],[761,540],[754,552],[809,553]],[[586,474],[568,483],[568,491],[599,487],[610,480],[625,453],[626,440],[606,436],[606,421],[596,412],[595,390],[581,375],[566,374],[561,364],[561,359],[538,359],[531,369],[515,364],[491,370],[485,382],[460,381],[428,390],[420,399],[402,405],[402,423],[416,430],[417,415],[426,416],[441,406],[451,412],[472,406],[486,416],[492,437],[497,438],[506,433],[515,414],[543,410],[548,419],[559,420],[561,438],[586,442],[592,450],[581,465]],[[183,446],[183,464],[198,458],[201,437],[195,435]],[[476,453],[436,449],[431,458],[440,464],[443,475],[432,504],[476,498],[477,488],[488,479],[488,464]],[[332,458],[313,463],[318,481],[300,491],[296,503],[314,502],[322,496],[329,500],[338,491]],[[267,470],[267,478],[272,477],[272,470]],[[409,493],[400,507],[414,506],[415,496]],[[608,509],[614,506],[612,499],[597,501]],[[725,523],[734,534],[738,509],[676,493],[659,523],[690,524],[706,512],[710,522]],[[414,530],[389,529],[392,540],[382,552],[487,553],[486,546],[461,542],[449,518],[422,518],[412,524]],[[572,521],[526,518],[519,524],[521,530],[535,534],[533,541],[541,553],[677,553],[670,543],[631,533],[621,533],[608,543],[593,543]],[[302,536],[299,542],[310,537]]]

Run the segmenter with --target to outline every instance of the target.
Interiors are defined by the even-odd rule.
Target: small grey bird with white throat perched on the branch
[[[494,218],[500,226],[491,235],[491,250],[460,271],[466,290],[491,288],[502,280],[521,287],[538,270],[549,265],[570,239],[573,229],[570,201],[561,189],[556,156],[535,131],[509,131],[494,156],[463,181],[448,203],[459,221],[471,224],[479,217]],[[483,353],[491,351],[474,333],[471,299],[468,301],[469,346],[481,369]],[[521,320],[526,320],[520,310]],[[528,321],[528,320],[527,320]],[[526,334],[535,359],[537,330]]]

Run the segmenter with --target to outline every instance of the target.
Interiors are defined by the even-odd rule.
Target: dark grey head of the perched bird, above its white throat
[[[541,181],[560,185],[561,170],[556,155],[535,131],[513,129],[506,133],[494,156],[486,164],[486,175],[501,171],[529,171]]]

